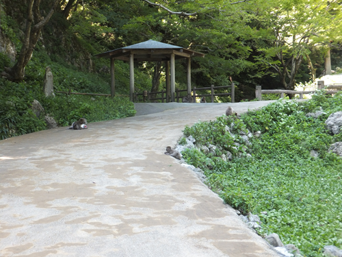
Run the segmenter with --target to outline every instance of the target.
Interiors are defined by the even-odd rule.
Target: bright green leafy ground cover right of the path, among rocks
[[[317,110],[326,114],[306,116]],[[323,256],[326,245],[342,248],[342,160],[328,152],[330,144],[342,141],[342,133],[332,136],[324,125],[331,113],[341,110],[342,95],[317,93],[305,102],[276,101],[241,119],[223,116],[196,123],[185,127],[185,136],[218,148],[215,154],[185,149],[183,157],[205,171],[208,186],[227,204],[261,217],[259,234],[277,233],[303,256]],[[247,128],[261,136],[251,138],[252,145],[234,148],[239,134],[232,138],[225,130],[231,123],[237,131]],[[231,161],[218,157],[227,150]],[[311,156],[312,150],[318,158]]]

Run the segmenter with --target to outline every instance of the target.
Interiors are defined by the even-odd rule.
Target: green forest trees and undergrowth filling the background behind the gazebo
[[[103,121],[134,115],[126,97],[42,94],[51,67],[55,90],[110,93],[109,60],[97,53],[157,40],[205,53],[192,58],[192,86],[235,82],[236,101],[254,88],[293,89],[342,66],[341,1],[1,0],[0,138],[47,127],[30,110],[37,99],[58,125],[79,117]],[[165,88],[158,62],[135,65],[135,90]],[[186,62],[177,61],[176,88],[186,88]],[[129,94],[129,66],[116,62],[116,94]],[[228,101],[228,99],[217,99]]]

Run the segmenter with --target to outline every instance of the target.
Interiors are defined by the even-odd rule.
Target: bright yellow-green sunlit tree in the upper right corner
[[[279,0],[269,2],[269,6],[258,17],[266,21],[274,36],[273,47],[260,49],[265,53],[263,62],[278,73],[285,89],[293,90],[304,58],[315,74],[310,49],[327,47],[332,40],[341,40],[342,5],[337,0]]]

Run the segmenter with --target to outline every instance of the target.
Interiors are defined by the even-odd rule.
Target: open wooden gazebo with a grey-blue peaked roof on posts
[[[204,57],[203,53],[198,53],[183,47],[169,45],[154,40],[147,40],[128,47],[99,53],[96,55],[101,58],[110,58],[111,71],[111,97],[115,96],[115,75],[114,75],[114,60],[123,60],[129,62],[129,95],[133,101],[134,95],[134,62],[166,62],[166,101],[174,101],[175,92],[175,75],[174,75],[174,60],[187,59],[187,93],[191,93],[191,62],[192,56]]]

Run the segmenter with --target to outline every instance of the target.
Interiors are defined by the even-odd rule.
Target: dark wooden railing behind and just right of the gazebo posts
[[[230,93],[216,93],[215,94],[215,90],[218,89],[223,89],[223,88],[231,88],[231,92]],[[193,92],[193,100],[194,103],[196,103],[196,99],[197,97],[210,97],[209,99],[206,99],[207,102],[214,102],[214,97],[216,96],[231,96],[231,102],[234,103],[235,102],[235,85],[234,83],[232,83],[229,86],[213,86],[211,85],[210,87],[207,88],[196,88],[194,86],[194,88],[192,89]],[[198,91],[201,90],[210,90],[210,94],[198,94]],[[185,94],[184,94],[185,93]],[[176,100],[176,102],[179,103],[179,101],[182,101],[182,98],[187,94],[187,89],[176,89],[176,92],[174,93],[174,99]],[[198,94],[198,95],[196,95]],[[158,95],[158,97],[157,97]],[[142,99],[140,100],[139,97],[142,97]],[[161,100],[162,103],[164,102],[169,102],[170,99],[166,99],[166,91],[159,91],[159,92],[150,92],[148,90],[144,90],[143,93],[135,93],[135,102],[137,101],[157,101],[157,100]]]

